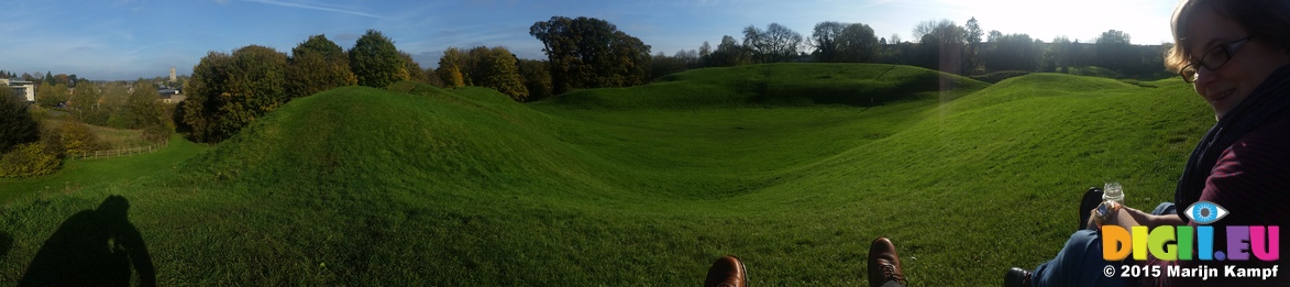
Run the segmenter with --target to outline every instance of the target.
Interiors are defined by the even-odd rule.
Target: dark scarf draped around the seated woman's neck
[[[1178,179],[1178,189],[1174,190],[1174,203],[1178,205],[1179,211],[1200,201],[1201,192],[1205,190],[1205,180],[1214,165],[1218,163],[1223,151],[1245,134],[1258,129],[1268,117],[1287,107],[1290,107],[1290,66],[1281,67],[1268,75],[1268,79],[1263,80],[1263,84],[1250,93],[1250,97],[1246,97],[1241,104],[1237,104],[1218,124],[1214,124],[1214,127],[1210,127],[1209,133],[1205,133],[1205,138],[1196,144],[1192,156],[1187,158],[1183,176]],[[1187,216],[1179,218],[1184,223],[1188,221]]]

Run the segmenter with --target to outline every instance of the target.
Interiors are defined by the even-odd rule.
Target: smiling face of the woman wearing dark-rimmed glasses
[[[1191,48],[1191,63],[1200,60],[1205,53],[1224,49],[1223,46],[1231,48],[1229,44],[1250,36],[1240,24],[1218,15],[1214,9],[1198,8],[1188,22],[1184,41]],[[1209,102],[1216,118],[1223,118],[1227,112],[1250,97],[1250,91],[1263,84],[1268,75],[1290,63],[1290,54],[1264,40],[1254,37],[1229,50],[1231,58],[1218,69],[1197,68],[1193,84],[1196,94]],[[1205,64],[1213,67],[1219,63]]]

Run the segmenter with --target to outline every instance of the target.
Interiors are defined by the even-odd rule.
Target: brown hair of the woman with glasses
[[[1286,0],[1182,0],[1174,9],[1170,23],[1174,48],[1165,53],[1165,67],[1179,71],[1191,63],[1192,46],[1187,46],[1183,31],[1196,9],[1214,9],[1219,17],[1235,21],[1250,36],[1290,51],[1290,1]]]

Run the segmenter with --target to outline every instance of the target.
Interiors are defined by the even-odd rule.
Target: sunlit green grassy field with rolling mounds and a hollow
[[[50,242],[102,238],[72,227],[116,194],[165,286],[700,286],[726,254],[756,286],[863,286],[880,236],[917,286],[996,286],[1057,254],[1087,187],[1173,198],[1213,112],[1134,84],[760,64],[529,104],[341,88],[214,147],[0,180],[0,284],[90,252]]]

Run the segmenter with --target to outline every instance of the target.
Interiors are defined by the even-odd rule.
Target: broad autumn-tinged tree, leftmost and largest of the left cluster
[[[205,143],[232,136],[288,100],[285,73],[286,54],[266,46],[206,54],[194,67],[181,130]]]

